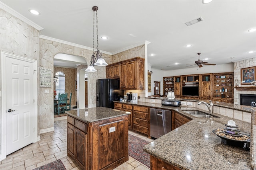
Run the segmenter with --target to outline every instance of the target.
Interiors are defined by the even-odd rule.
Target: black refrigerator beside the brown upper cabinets
[[[120,90],[119,79],[96,80],[96,106],[114,108],[114,102],[124,96],[124,90]]]

